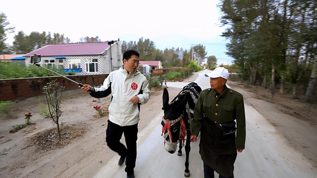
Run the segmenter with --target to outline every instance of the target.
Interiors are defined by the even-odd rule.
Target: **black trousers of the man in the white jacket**
[[[124,134],[125,147],[120,139]],[[120,156],[126,155],[125,172],[132,173],[137,159],[137,139],[138,139],[138,124],[132,126],[119,126],[108,120],[106,130],[106,143],[109,148],[117,152]]]

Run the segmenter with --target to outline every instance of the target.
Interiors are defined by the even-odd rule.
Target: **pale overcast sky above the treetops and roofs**
[[[219,0],[1,0],[15,33],[33,31],[64,34],[71,42],[81,37],[102,41],[150,39],[157,48],[206,46],[218,64],[231,63],[225,54],[225,39],[220,37]]]

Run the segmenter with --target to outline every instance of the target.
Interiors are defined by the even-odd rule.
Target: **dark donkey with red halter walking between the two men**
[[[182,147],[184,146],[186,136],[186,161],[185,161],[185,177],[190,176],[189,152],[190,152],[190,123],[194,116],[194,107],[197,103],[199,93],[202,89],[194,82],[185,86],[177,96],[168,103],[168,91],[163,90],[163,110],[164,116],[161,125],[163,126],[162,135],[164,135],[164,146],[166,151],[174,153],[179,142],[179,150],[177,155],[182,155]]]

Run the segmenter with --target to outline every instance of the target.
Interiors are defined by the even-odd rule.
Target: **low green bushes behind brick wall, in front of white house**
[[[58,71],[56,67],[47,67],[61,75],[67,75],[64,71]],[[15,62],[0,62],[0,79],[16,79],[29,77],[48,77],[56,76],[42,67],[35,65],[24,66]]]

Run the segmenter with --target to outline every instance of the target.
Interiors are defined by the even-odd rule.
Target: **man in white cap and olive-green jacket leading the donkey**
[[[245,148],[246,124],[243,96],[226,87],[228,70],[215,68],[210,77],[211,89],[200,93],[191,123],[191,141],[201,132],[199,153],[204,162],[205,178],[233,178],[237,152]],[[236,121],[236,123],[235,123]]]

